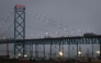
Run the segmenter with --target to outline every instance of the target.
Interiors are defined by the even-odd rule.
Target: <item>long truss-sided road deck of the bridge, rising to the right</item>
[[[1,39],[0,43],[14,43],[14,39]],[[15,42],[23,43],[25,42],[26,45],[32,43],[32,45],[90,45],[90,43],[100,43],[101,41],[101,35],[98,36],[76,36],[76,37],[63,37],[63,38],[41,38],[41,39],[16,39]]]

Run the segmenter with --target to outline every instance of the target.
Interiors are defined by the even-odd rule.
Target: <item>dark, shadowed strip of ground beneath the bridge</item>
[[[79,61],[53,61],[53,60],[43,60],[43,61],[29,61],[29,60],[18,60],[18,59],[0,59],[0,63],[101,63],[98,62],[79,62]]]

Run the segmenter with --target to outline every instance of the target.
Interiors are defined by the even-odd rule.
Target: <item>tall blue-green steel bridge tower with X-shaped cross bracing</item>
[[[20,54],[24,58],[25,43],[15,39],[25,39],[25,7],[21,4],[14,7],[14,56]]]

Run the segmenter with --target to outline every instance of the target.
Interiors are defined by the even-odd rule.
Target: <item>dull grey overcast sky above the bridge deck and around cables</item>
[[[101,34],[101,0],[0,0],[0,17],[5,18],[11,10],[13,10],[15,4],[24,4],[26,9],[33,10],[34,12],[45,15],[46,17],[56,22],[63,23],[66,26],[80,29],[83,33],[89,32],[97,33],[99,35]],[[14,16],[12,13],[9,21],[13,22],[13,20]],[[45,23],[44,21],[29,15],[29,13],[26,13],[25,20],[26,25],[48,30],[50,36],[57,36],[52,32],[70,35],[68,32],[59,29],[50,24]],[[50,22],[49,20],[47,21]],[[0,24],[2,23],[3,20],[0,20]],[[10,26],[10,22],[7,22],[3,27],[0,28],[0,35]],[[58,24],[55,25],[59,26]],[[71,32],[71,29],[68,27],[63,28]],[[33,35],[34,38],[37,38],[40,37],[37,34],[40,33],[42,33],[41,37],[44,37],[46,32],[26,27],[26,38],[31,38],[31,35]],[[74,30],[74,33],[80,35],[80,33],[77,33],[76,30]],[[2,37],[12,38],[13,26],[0,38]]]

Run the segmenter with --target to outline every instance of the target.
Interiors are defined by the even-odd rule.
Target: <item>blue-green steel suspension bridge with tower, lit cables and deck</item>
[[[27,12],[25,10],[27,10],[30,12]],[[33,53],[35,53],[35,58],[46,58],[46,48],[47,48],[46,46],[48,46],[48,50],[49,50],[48,58],[50,58],[50,59],[54,58],[54,55],[53,55],[53,53],[55,53],[54,50],[58,50],[59,52],[63,51],[61,46],[64,46],[64,45],[68,46],[68,49],[67,49],[68,53],[66,54],[66,55],[68,55],[68,58],[71,58],[72,55],[78,56],[79,45],[100,45],[100,52],[101,52],[101,35],[88,36],[88,37],[78,36],[77,34],[69,32],[66,28],[63,28],[53,23],[49,23],[48,21],[46,21],[44,18],[41,18],[40,16],[43,16],[52,22],[55,22],[44,15],[41,15],[40,13],[33,12],[32,10],[29,10],[29,9],[25,9],[25,5],[15,4],[13,11],[14,11],[14,22],[11,22],[11,21],[10,22],[12,24],[14,24],[14,37],[12,39],[0,39],[0,43],[1,45],[2,43],[14,43],[13,54],[15,58],[18,58],[19,54],[21,54],[22,58],[24,58],[24,55],[26,54],[29,59],[32,59],[34,56]],[[65,32],[71,33],[75,36],[25,39],[25,27],[31,27],[31,26],[25,25],[25,13],[26,12],[29,14],[31,14],[32,16],[40,18],[41,21],[44,21],[44,22],[46,22],[57,28],[60,28]],[[9,16],[11,15],[11,13],[9,14]],[[37,14],[38,16],[36,16],[35,14]],[[0,28],[8,21],[9,16],[4,20],[3,24],[1,24]],[[55,22],[55,23],[57,23],[59,25],[64,25],[58,22]],[[9,28],[12,26],[12,24],[8,27],[8,29],[5,29],[5,32],[1,36],[3,36],[9,30]],[[69,27],[69,26],[66,26],[66,27]],[[34,27],[31,27],[31,28],[34,28]],[[71,27],[69,27],[69,28],[72,30],[77,30]],[[35,28],[35,29],[37,29],[37,28]],[[38,30],[43,30],[43,29],[38,29]],[[44,32],[48,32],[48,30],[44,30]],[[83,34],[81,30],[78,30],[78,32]],[[52,32],[52,33],[54,33],[54,32]],[[33,46],[34,46],[35,51],[33,51]],[[58,49],[56,49],[56,47],[58,47]],[[64,51],[63,51],[63,53],[64,53]],[[101,53],[100,53],[100,58],[101,58]]]

